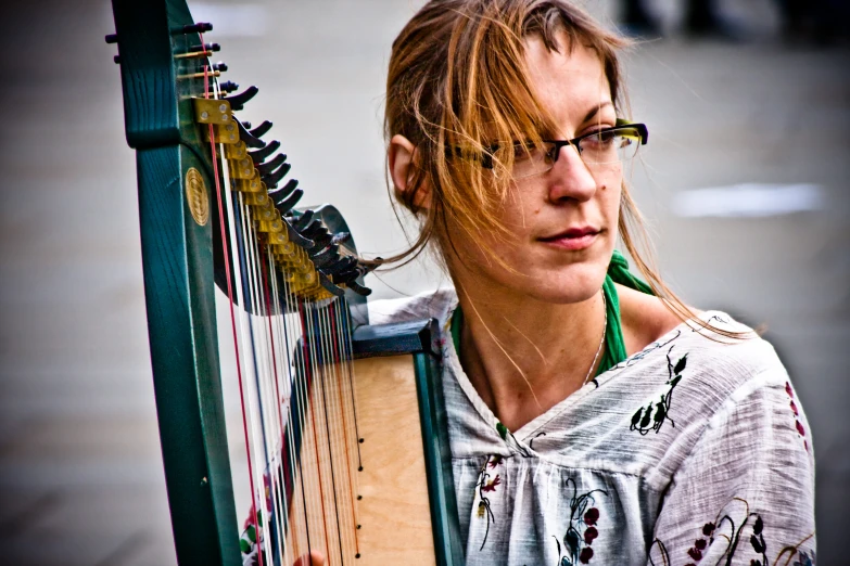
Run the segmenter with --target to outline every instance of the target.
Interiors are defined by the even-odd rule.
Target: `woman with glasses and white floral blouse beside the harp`
[[[434,0],[393,43],[389,171],[435,317],[469,565],[814,563],[808,424],[773,348],[640,259],[623,40],[564,0]],[[560,140],[560,141],[558,141]],[[650,283],[633,278],[618,237]]]

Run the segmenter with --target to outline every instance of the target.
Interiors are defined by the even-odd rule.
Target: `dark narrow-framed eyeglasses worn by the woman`
[[[481,158],[482,167],[493,168],[493,159],[507,162],[505,152],[513,152],[513,179],[524,179],[542,175],[555,166],[561,147],[572,145],[579,156],[588,167],[625,163],[637,155],[637,149],[645,145],[649,132],[644,124],[630,124],[617,120],[613,128],[592,131],[572,140],[543,140],[537,145],[533,142],[515,143],[512,145],[491,145],[489,152]]]

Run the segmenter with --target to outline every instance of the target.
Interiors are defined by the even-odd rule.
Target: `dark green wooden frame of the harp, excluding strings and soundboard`
[[[232,116],[251,92],[229,95],[229,107],[220,116],[215,106],[208,106],[210,101],[198,102],[208,93],[210,82],[216,82],[219,70],[210,64],[211,49],[203,39],[203,33],[212,26],[195,24],[183,0],[113,0],[113,13],[116,33],[107,36],[106,41],[117,43],[115,61],[122,75],[126,138],[136,150],[151,360],[177,559],[181,565],[240,565],[241,531],[225,426],[214,297],[216,281],[223,285],[233,275],[220,270],[224,244],[219,240],[224,236],[216,236],[220,218],[216,195],[207,189],[215,186],[216,177],[223,176],[225,156],[211,155],[204,134],[208,131],[214,140],[219,133],[226,136],[225,125],[229,124],[242,130],[238,131],[240,139],[256,140],[262,128],[245,131]],[[227,87],[224,93],[227,94]],[[207,115],[206,123],[202,118],[204,107],[213,114],[212,118]],[[220,124],[215,124],[216,116]],[[253,143],[271,153],[271,144]],[[266,156],[259,163],[254,159],[256,167],[264,169],[264,179],[282,177],[280,164],[263,162]],[[290,193],[292,202],[300,194]],[[308,240],[297,230],[305,228],[297,226],[304,215],[288,214],[286,237],[299,245],[300,237]],[[321,226],[321,234],[345,230],[333,207],[325,206],[309,214],[313,222]],[[263,237],[270,236],[264,233]],[[356,258],[351,241],[340,245]],[[302,256],[309,258],[314,267],[319,262],[309,254]],[[364,291],[363,270],[352,279],[351,269],[358,269],[351,267],[352,261],[346,263],[348,279],[341,282],[335,275],[323,276],[323,287],[318,292],[332,288],[344,293],[346,301],[339,304],[351,308],[339,320],[348,331],[353,330],[350,356],[411,357],[409,381],[415,382],[422,438],[421,446],[413,448],[420,451],[424,463],[433,541],[433,558],[421,564],[460,565],[464,558],[439,349],[434,347],[436,325],[434,321],[368,325],[365,299],[352,291]],[[321,275],[318,267],[314,271],[314,275]],[[248,309],[248,301],[243,306]],[[310,336],[305,334],[303,339]],[[380,381],[380,371],[377,376]],[[256,497],[252,493],[252,498]],[[239,512],[244,514],[248,510]],[[392,520],[383,528],[392,530]],[[283,557],[272,553],[265,556],[265,562],[279,564]],[[357,564],[350,558],[348,562]],[[366,563],[372,562],[364,555],[359,564]]]

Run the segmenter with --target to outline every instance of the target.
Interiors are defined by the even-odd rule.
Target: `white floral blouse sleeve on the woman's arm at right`
[[[749,380],[709,419],[662,500],[647,565],[814,565],[814,458],[787,376]]]

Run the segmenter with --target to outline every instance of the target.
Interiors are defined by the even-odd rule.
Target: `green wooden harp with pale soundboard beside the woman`
[[[368,324],[368,268],[342,216],[296,208],[271,125],[234,114],[257,89],[238,92],[210,61],[211,24],[183,0],[113,13],[178,562],[461,564],[434,321]],[[216,286],[248,486],[231,476]]]

